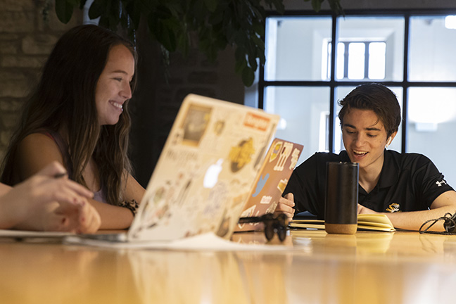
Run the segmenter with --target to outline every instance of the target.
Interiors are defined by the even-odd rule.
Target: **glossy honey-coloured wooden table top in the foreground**
[[[265,243],[260,233],[234,240]],[[0,240],[0,303],[455,303],[456,236],[293,230],[285,244],[192,252]]]

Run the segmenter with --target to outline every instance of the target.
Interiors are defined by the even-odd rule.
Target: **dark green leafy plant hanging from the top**
[[[87,0],[56,0],[56,14],[62,23],[70,21],[75,8]],[[331,10],[342,13],[341,0],[312,1],[315,11],[324,1]],[[284,13],[284,0],[94,0],[89,18],[100,18],[99,25],[117,30],[119,25],[131,37],[146,18],[151,36],[169,52],[188,55],[191,34],[198,37],[198,48],[214,61],[219,51],[234,47],[236,73],[250,87],[258,65],[265,64],[266,9]]]

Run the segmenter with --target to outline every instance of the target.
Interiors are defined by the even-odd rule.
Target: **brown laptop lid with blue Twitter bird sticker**
[[[272,141],[241,217],[260,217],[274,212],[302,151],[303,145],[277,138]],[[234,231],[260,229],[263,229],[262,223],[238,223]]]

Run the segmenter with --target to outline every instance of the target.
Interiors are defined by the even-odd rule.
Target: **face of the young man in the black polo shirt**
[[[391,137],[393,140],[395,133]],[[351,108],[343,118],[342,138],[352,163],[358,163],[363,170],[381,170],[388,137],[373,110]]]

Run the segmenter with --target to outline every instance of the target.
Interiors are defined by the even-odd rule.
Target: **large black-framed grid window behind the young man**
[[[455,186],[456,11],[309,13],[267,18],[258,106],[281,115],[277,137],[305,146],[299,163],[315,151],[338,153],[338,99],[380,82],[405,109],[389,148],[429,156]]]

